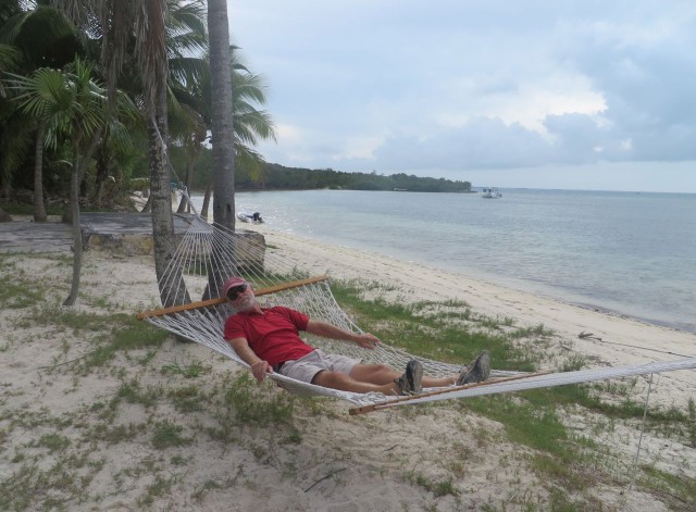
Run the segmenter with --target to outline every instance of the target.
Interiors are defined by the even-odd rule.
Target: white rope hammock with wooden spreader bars
[[[311,319],[327,322],[347,330],[361,333],[336,302],[325,275],[310,276],[284,258],[279,251],[265,245],[262,235],[254,232],[233,232],[224,226],[210,224],[197,213],[177,214],[189,227],[183,235],[177,250],[160,278],[164,290],[164,304],[178,304],[139,313],[137,316],[175,335],[183,336],[248,367],[234,349],[223,339],[226,319],[234,313],[221,290],[232,276],[241,276],[253,285],[254,294],[264,308],[285,305],[308,314]],[[308,252],[311,247],[307,248]],[[191,302],[190,298],[201,298]],[[406,367],[411,359],[423,365],[423,373],[444,377],[459,373],[460,366],[411,355],[387,344],[374,350],[364,350],[355,344],[311,336],[308,342],[326,352],[340,353],[365,363],[388,364],[396,370]],[[696,367],[696,359],[651,363],[631,367],[584,370],[567,373],[536,373],[492,371],[486,383],[445,388],[425,388],[412,397],[382,394],[357,394],[325,388],[291,379],[278,373],[269,377],[300,396],[326,396],[351,402],[351,414],[377,411],[394,405],[422,403],[452,398],[475,397],[496,392],[509,392],[539,387],[609,379],[630,375],[643,375]]]

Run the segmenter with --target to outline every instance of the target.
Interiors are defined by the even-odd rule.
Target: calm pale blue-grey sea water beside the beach
[[[240,192],[236,205],[282,232],[696,333],[696,195],[501,192]]]

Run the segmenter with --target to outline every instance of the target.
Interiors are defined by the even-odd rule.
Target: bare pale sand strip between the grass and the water
[[[394,286],[393,298],[399,300],[458,299],[486,316],[513,319],[515,326],[543,325],[560,336],[570,350],[587,358],[592,366],[636,365],[696,355],[696,334],[685,330],[273,230],[264,225],[250,230],[262,233],[269,247],[290,261],[302,262],[303,267],[316,274],[386,283]],[[583,333],[591,336],[581,338]],[[686,405],[689,399],[696,399],[696,372],[666,373],[659,382],[659,389],[654,392],[663,403]]]

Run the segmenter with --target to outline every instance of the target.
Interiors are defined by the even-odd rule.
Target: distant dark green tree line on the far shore
[[[202,151],[197,170],[194,173],[194,190],[203,190],[209,183],[210,155]],[[172,151],[172,163],[185,165],[183,157]],[[405,173],[388,176],[371,173],[348,173],[333,168],[286,167],[276,163],[264,165],[259,176],[249,175],[237,170],[235,176],[237,190],[311,190],[320,188],[344,190],[408,190],[411,192],[470,192],[471,182],[459,182],[445,178],[431,178],[408,175]]]

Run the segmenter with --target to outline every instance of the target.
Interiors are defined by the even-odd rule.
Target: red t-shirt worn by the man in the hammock
[[[314,349],[302,341],[300,330],[307,330],[309,316],[299,311],[276,305],[233,314],[225,322],[226,340],[245,338],[253,352],[271,366],[303,358]]]

